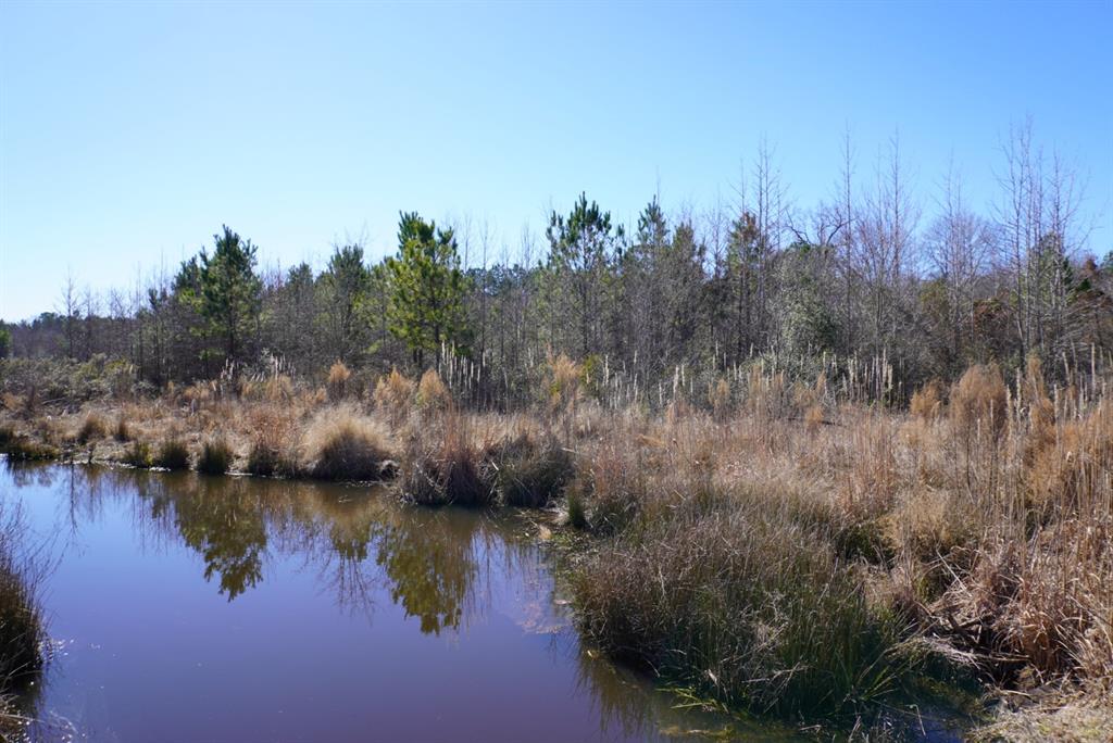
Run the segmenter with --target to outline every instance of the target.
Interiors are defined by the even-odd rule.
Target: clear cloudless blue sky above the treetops
[[[516,244],[581,190],[631,219],[729,198],[762,135],[792,200],[895,128],[930,199],[981,207],[1009,123],[1089,175],[1113,248],[1113,2],[0,3],[0,318],[137,276],[223,222],[321,265],[400,209]]]

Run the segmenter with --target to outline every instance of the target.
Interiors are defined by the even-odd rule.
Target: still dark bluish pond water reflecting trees
[[[33,737],[785,739],[581,646],[521,516],[99,467],[3,468],[0,498],[52,564]]]

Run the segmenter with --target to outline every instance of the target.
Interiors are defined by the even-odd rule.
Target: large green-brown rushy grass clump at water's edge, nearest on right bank
[[[893,694],[894,630],[815,534],[720,494],[638,519],[574,577],[582,630],[615,657],[757,712],[838,714]]]

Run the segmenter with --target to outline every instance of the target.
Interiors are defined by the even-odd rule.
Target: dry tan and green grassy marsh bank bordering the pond
[[[433,371],[356,394],[335,366],[51,408],[0,446],[220,474],[387,479],[417,504],[549,508],[584,635],[696,699],[840,729],[974,680],[986,739],[1113,734],[1113,404],[1031,361],[908,410],[755,367],[659,412],[552,359],[525,412]]]

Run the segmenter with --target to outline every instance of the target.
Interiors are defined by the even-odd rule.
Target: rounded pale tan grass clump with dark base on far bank
[[[303,449],[306,470],[318,479],[380,479],[390,458],[382,427],[349,407],[318,413],[305,434]]]

